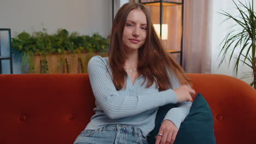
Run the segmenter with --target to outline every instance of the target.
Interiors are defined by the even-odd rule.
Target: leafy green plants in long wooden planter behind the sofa
[[[14,55],[22,59],[22,73],[77,73],[74,69],[87,73],[89,58],[106,56],[108,43],[108,39],[97,33],[90,37],[77,32],[69,34],[66,29],[58,29],[52,35],[46,29],[32,35],[22,32],[12,38]]]

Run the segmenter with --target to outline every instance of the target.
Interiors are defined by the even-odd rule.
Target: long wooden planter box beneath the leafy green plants
[[[88,73],[87,65],[91,57],[100,55],[98,52],[80,52],[64,54],[51,53],[46,57],[34,55],[34,69],[29,70],[30,74],[60,74],[60,73]],[[101,54],[107,56],[107,53]]]

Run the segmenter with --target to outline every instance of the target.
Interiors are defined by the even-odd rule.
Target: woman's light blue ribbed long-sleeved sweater
[[[129,76],[126,88],[117,91],[107,72],[108,57],[94,56],[88,63],[89,79],[95,96],[95,115],[85,129],[98,129],[107,124],[125,124],[138,127],[147,136],[153,130],[159,106],[176,104],[177,97],[172,89],[159,92],[155,83],[149,88],[141,86],[144,76],[131,83]],[[173,89],[181,86],[177,76],[170,73]],[[184,101],[168,111],[164,119],[172,121],[179,129],[188,115],[191,102]]]

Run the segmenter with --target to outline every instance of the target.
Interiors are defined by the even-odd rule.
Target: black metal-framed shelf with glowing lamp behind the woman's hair
[[[182,66],[183,0],[139,0],[148,9],[165,50]]]

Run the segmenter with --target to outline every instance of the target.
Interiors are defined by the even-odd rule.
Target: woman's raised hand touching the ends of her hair
[[[177,103],[181,101],[193,101],[192,96],[195,95],[195,90],[189,85],[182,85],[173,91],[177,95]]]

